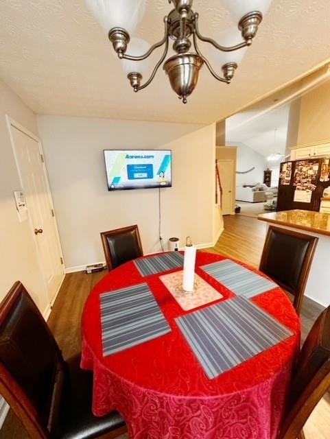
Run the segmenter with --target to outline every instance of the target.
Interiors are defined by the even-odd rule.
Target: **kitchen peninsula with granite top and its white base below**
[[[312,211],[280,211],[263,213],[258,219],[275,225],[290,228],[300,233],[318,237],[311,270],[306,283],[305,296],[324,307],[330,305],[329,261],[330,261],[330,215]],[[298,230],[297,230],[298,229]],[[290,257],[290,254],[283,257]]]

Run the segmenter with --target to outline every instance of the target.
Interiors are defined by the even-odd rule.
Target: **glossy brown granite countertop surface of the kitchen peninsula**
[[[312,211],[280,211],[258,215],[261,221],[330,236],[330,215]],[[330,289],[329,289],[330,293]]]

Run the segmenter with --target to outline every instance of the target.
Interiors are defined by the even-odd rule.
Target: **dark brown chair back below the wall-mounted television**
[[[137,225],[102,232],[101,238],[109,272],[122,263],[143,256]]]

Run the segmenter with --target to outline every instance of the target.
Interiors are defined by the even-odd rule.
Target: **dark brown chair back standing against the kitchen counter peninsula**
[[[318,237],[269,226],[259,270],[294,296],[300,313]]]

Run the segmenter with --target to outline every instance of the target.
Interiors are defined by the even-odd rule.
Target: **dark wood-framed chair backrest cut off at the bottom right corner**
[[[279,439],[296,439],[330,386],[330,307],[314,323],[292,375]]]

